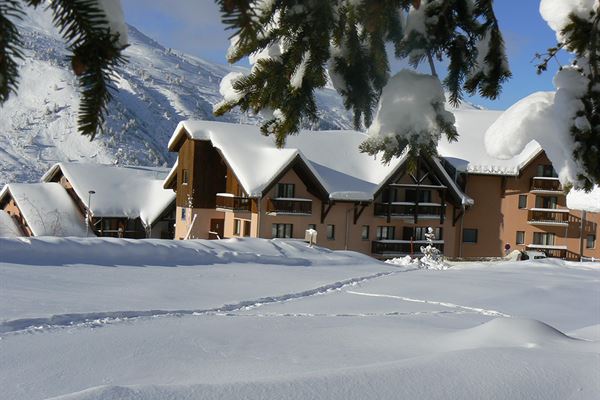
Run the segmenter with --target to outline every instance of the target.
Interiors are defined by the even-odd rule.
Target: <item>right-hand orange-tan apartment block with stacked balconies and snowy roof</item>
[[[537,142],[510,159],[487,155],[484,132],[498,114],[456,111],[461,138],[453,143],[442,140],[438,147],[464,175],[465,192],[474,201],[461,221],[459,256],[502,256],[509,248],[571,260],[582,255],[600,258],[600,214],[568,208],[568,195]],[[600,209],[600,204],[587,206]]]

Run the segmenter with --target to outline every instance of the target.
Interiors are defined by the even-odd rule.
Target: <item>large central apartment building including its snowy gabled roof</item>
[[[165,180],[176,195],[176,239],[303,239],[376,257],[416,254],[431,226],[436,244],[458,254],[459,216],[472,200],[443,160],[383,165],[360,153],[359,132],[303,132],[275,148],[258,127],[209,121],[179,124],[179,155]]]

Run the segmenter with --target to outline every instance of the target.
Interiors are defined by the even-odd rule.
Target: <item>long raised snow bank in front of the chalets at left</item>
[[[33,265],[379,264],[368,256],[354,252],[333,252],[320,247],[309,248],[302,241],[276,239],[174,241],[75,237],[0,238],[0,248],[2,262]]]

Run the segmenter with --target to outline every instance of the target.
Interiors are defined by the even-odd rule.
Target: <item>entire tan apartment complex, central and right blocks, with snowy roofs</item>
[[[169,142],[178,161],[165,180],[176,191],[175,238],[303,239],[314,229],[321,246],[389,258],[418,254],[431,226],[449,257],[500,256],[507,244],[600,256],[598,215],[581,225],[581,212],[566,208],[535,143],[493,168],[478,164],[481,153],[457,156],[454,144],[441,145],[442,155],[452,154],[411,169],[404,158],[382,165],[360,153],[364,139],[306,131],[277,149],[256,126],[181,122]]]

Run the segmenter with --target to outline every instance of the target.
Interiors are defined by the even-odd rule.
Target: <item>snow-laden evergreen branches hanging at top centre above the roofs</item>
[[[434,62],[446,59],[443,86],[453,105],[465,92],[494,99],[510,77],[492,0],[217,2],[223,22],[234,30],[228,60],[250,56],[253,67],[247,75],[234,73],[224,79],[224,100],[215,113],[240,107],[266,114],[262,131],[273,134],[280,146],[287,135],[318,119],[314,93],[328,78],[345,107],[353,111],[357,129],[381,126],[382,117],[373,112],[378,103],[381,114],[391,107],[380,102],[391,80],[390,46],[396,58],[415,68],[428,64],[430,77],[438,84]],[[406,76],[402,79],[406,81]],[[389,161],[409,144],[413,155],[435,154],[442,133],[450,140],[457,138],[453,117],[444,109],[441,85],[438,90],[431,79],[421,81],[436,92],[426,104],[431,115],[423,118],[428,121],[376,131],[363,151],[383,151]],[[418,86],[414,89],[419,91]]]

